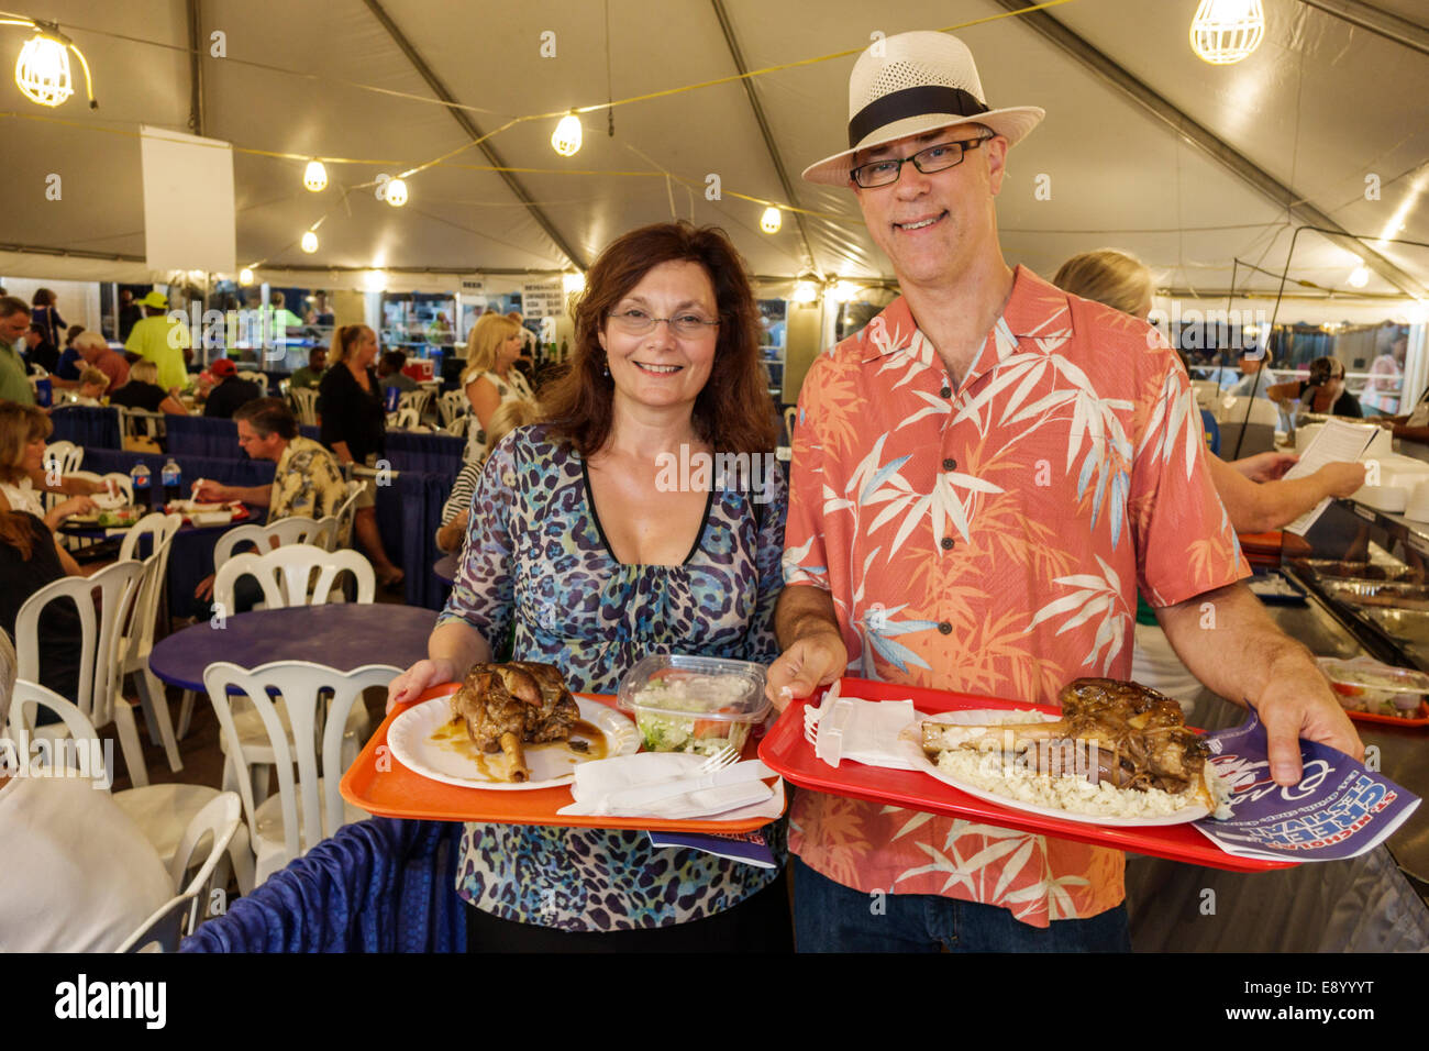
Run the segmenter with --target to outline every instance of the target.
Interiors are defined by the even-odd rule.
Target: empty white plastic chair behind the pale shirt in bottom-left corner
[[[94,742],[86,749],[74,749],[80,761],[80,771],[87,774],[100,786],[107,788],[111,771],[104,765],[103,749],[99,746],[100,738],[94,731],[94,724],[84,714],[63,696],[51,689],[46,689],[37,682],[17,679],[10,705],[9,738],[17,742],[21,755],[29,756],[30,732],[34,728],[36,708],[49,708],[60,716],[77,742]],[[51,752],[51,755],[54,755]],[[86,771],[83,764],[89,762]],[[204,814],[213,802],[223,795],[216,788],[206,785],[146,785],[114,792],[114,804],[139,825],[154,851],[174,877],[174,885],[183,878],[189,868],[189,855],[193,842],[189,834],[200,824],[199,815]],[[231,804],[230,804],[231,805]],[[186,845],[187,844],[187,845]],[[227,849],[233,861],[233,871],[239,879],[239,891],[249,894],[253,889],[253,849],[249,845],[249,831],[239,824],[220,849]],[[211,869],[210,869],[211,872]],[[119,874],[121,875],[121,874]],[[173,902],[166,905],[169,908]],[[163,909],[160,909],[161,912]],[[156,914],[157,915],[157,914]]]

